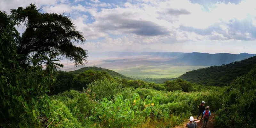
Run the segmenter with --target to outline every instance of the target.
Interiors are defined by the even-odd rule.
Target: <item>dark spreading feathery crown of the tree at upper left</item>
[[[16,38],[17,54],[23,55],[18,61],[23,65],[31,64],[32,59],[47,56],[52,62],[66,58],[75,65],[87,62],[88,51],[77,47],[74,43],[83,44],[85,39],[69,16],[57,13],[41,13],[35,4],[26,8],[12,9],[10,19],[18,26],[23,25],[25,31]],[[39,62],[48,64],[46,59]],[[55,65],[63,66],[55,63]]]

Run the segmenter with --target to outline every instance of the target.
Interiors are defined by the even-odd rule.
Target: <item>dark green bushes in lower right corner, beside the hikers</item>
[[[226,128],[256,127],[256,67],[238,77],[225,93],[224,108],[218,111],[217,126]]]

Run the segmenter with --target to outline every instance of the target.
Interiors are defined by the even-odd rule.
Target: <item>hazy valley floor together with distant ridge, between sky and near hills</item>
[[[88,58],[89,63],[84,67],[106,68],[137,79],[176,78],[191,70],[229,64],[255,55],[198,52],[98,52],[92,56],[93,59]],[[68,61],[61,61],[61,63],[64,65],[60,68],[62,71],[83,68],[82,66],[74,67],[74,64]]]

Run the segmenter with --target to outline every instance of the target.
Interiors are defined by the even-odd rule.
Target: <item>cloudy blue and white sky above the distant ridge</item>
[[[255,0],[0,0],[69,14],[91,52],[256,53]]]

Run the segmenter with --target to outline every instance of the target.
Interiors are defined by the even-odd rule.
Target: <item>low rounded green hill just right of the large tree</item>
[[[74,75],[78,75],[82,72],[85,72],[85,71],[88,71],[88,70],[92,70],[92,71],[100,71],[100,72],[107,72],[109,76],[112,76],[112,77],[117,77],[117,78],[123,78],[123,79],[127,79],[127,80],[134,80],[130,77],[126,77],[122,74],[119,74],[115,71],[112,71],[112,70],[109,70],[109,69],[105,69],[105,68],[98,68],[98,67],[84,67],[84,68],[80,68],[78,70],[75,70],[75,71],[70,71],[69,73],[72,73]]]

